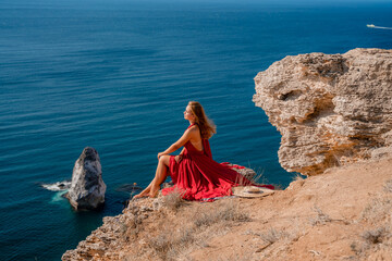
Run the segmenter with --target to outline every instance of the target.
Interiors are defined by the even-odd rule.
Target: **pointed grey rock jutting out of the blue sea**
[[[71,188],[65,195],[76,210],[91,210],[105,203],[106,184],[97,150],[86,147],[75,162]]]

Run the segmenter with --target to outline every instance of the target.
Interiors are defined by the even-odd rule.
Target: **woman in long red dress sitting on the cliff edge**
[[[162,189],[162,194],[179,190],[183,198],[188,200],[232,195],[232,187],[238,183],[253,185],[236,171],[212,160],[208,139],[216,133],[216,126],[206,116],[200,103],[191,101],[184,111],[184,119],[189,121],[189,126],[177,141],[158,153],[159,163],[155,178],[134,198],[156,197],[168,172],[174,186]],[[184,148],[179,156],[170,156],[181,147]]]

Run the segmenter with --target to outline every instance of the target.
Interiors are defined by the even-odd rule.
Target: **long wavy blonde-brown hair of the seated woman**
[[[201,138],[208,139],[217,133],[217,126],[206,115],[203,105],[197,101],[189,101],[188,105],[195,116],[195,123],[200,128]]]

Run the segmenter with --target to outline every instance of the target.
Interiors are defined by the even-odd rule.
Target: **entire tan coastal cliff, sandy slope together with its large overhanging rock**
[[[372,159],[298,176],[262,200],[132,200],[62,260],[389,260],[391,58],[377,49],[287,57],[255,78],[286,170],[313,175]]]

